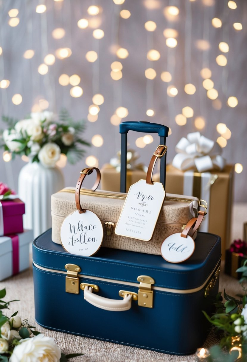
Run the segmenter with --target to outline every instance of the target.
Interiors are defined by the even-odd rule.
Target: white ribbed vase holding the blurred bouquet
[[[51,227],[51,195],[64,187],[58,167],[46,168],[29,162],[20,171],[18,195],[25,202],[24,228],[33,229],[34,237]]]

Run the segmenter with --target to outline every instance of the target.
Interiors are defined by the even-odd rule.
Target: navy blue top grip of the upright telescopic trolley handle
[[[158,133],[160,137],[167,137],[169,132],[169,127],[159,125],[159,123],[151,123],[146,121],[126,121],[122,122],[119,125],[120,133],[128,133],[129,131],[137,132],[150,132]]]

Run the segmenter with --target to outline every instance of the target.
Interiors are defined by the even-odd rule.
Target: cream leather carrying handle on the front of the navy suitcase
[[[109,299],[100,295],[93,294],[92,287],[86,286],[84,289],[84,299],[95,307],[106,311],[121,312],[131,308],[132,296],[127,294],[122,300]]]

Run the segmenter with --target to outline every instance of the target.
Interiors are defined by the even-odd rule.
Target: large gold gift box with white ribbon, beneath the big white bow
[[[187,177],[188,174],[188,179]],[[222,171],[212,170],[207,173],[183,172],[172,165],[167,166],[166,192],[195,196],[204,199],[205,193],[208,202],[208,215],[205,218],[207,224],[200,231],[210,232],[221,237],[222,257],[230,246],[231,209],[233,195],[234,166],[226,165]],[[206,176],[206,184],[203,177]],[[208,180],[208,181],[207,181]],[[155,174],[153,181],[159,181],[159,174]],[[188,185],[188,183],[192,183]],[[190,189],[188,194],[186,191]],[[208,219],[208,220],[207,220]]]

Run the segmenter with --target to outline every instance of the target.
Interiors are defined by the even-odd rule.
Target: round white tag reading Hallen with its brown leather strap
[[[62,224],[60,239],[63,248],[71,253],[82,256],[92,256],[101,247],[103,240],[103,227],[98,216],[89,210],[81,208],[80,189],[87,174],[93,170],[97,172],[97,179],[92,190],[96,190],[100,183],[100,171],[96,167],[85,168],[76,184],[75,201],[78,210],[68,215]]]

